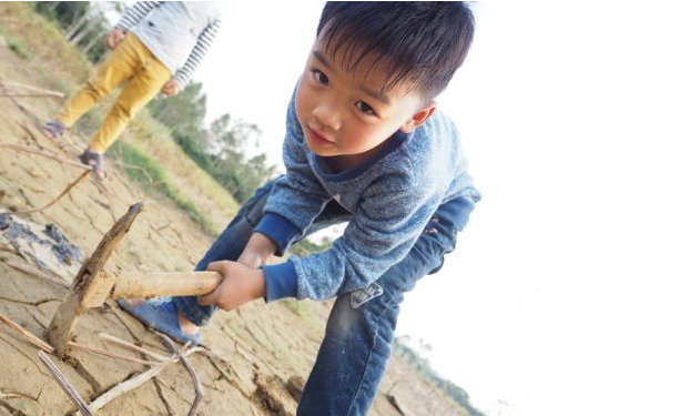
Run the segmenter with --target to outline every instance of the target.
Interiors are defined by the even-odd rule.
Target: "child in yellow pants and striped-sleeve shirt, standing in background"
[[[141,1],[126,9],[106,34],[113,52],[73,94],[42,132],[59,140],[98,101],[128,81],[109,114],[80,155],[98,179],[105,177],[103,153],[134,114],[159,92],[172,97],[191,80],[220,30],[215,2]]]

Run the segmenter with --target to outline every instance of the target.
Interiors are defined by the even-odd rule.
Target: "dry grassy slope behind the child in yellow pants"
[[[0,34],[41,77],[38,87],[72,93],[93,72],[93,65],[63,38],[51,22],[27,3],[0,3]],[[77,125],[87,140],[103,119],[112,98],[97,105]],[[58,111],[54,105],[53,111]],[[83,143],[84,144],[84,143]],[[215,180],[189,159],[166,129],[145,110],[133,120],[108,153],[115,165],[158,197],[169,197],[215,234],[227,223],[238,203]]]

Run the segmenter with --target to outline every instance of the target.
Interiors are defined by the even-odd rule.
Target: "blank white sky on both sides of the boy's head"
[[[209,118],[258,124],[272,162],[322,7],[223,3],[197,77]],[[477,20],[440,102],[485,197],[398,333],[481,409],[680,414],[677,7],[498,2]]]

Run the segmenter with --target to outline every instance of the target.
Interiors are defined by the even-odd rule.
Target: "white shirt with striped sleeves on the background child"
[[[216,2],[140,1],[125,10],[116,27],[134,32],[183,89],[221,24]]]

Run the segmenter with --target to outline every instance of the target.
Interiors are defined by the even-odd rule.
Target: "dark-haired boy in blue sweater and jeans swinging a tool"
[[[328,2],[287,112],[286,174],[261,187],[196,266],[225,277],[202,298],[121,306],[199,342],[216,307],[337,296],[298,415],[364,415],[404,293],[454,250],[479,193],[434,98],[474,33],[464,3]],[[327,251],[264,265],[348,221]]]

